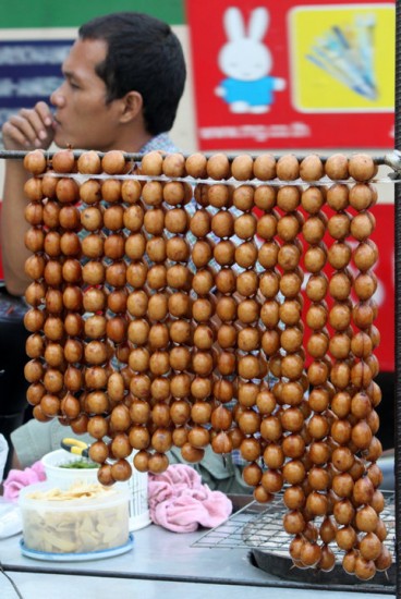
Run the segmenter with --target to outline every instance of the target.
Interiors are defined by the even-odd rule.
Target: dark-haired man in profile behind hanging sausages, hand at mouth
[[[94,19],[78,30],[66,57],[63,84],[50,101],[23,109],[2,129],[8,150],[74,149],[173,151],[170,131],[185,84],[179,39],[166,23],[126,12]],[[22,161],[7,160],[1,243],[8,291],[23,295],[27,179]]]

